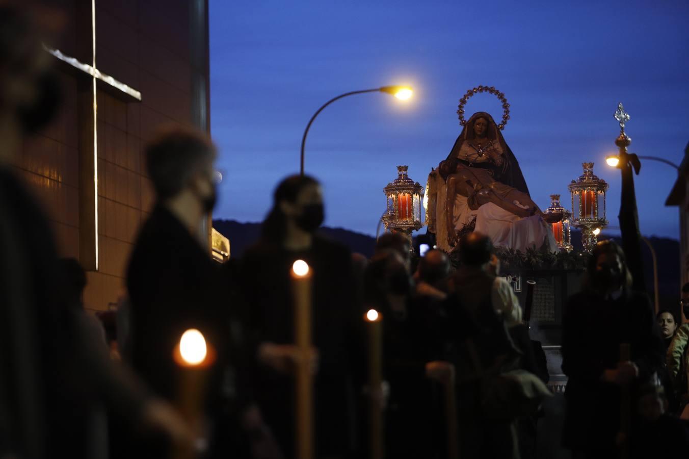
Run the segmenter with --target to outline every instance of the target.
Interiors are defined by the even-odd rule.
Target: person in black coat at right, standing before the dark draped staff
[[[614,457],[622,388],[633,393],[661,370],[663,343],[648,296],[630,291],[619,245],[597,243],[586,276],[584,289],[568,298],[564,311],[562,371],[569,379],[563,442],[577,457]],[[623,344],[630,347],[626,361]]]

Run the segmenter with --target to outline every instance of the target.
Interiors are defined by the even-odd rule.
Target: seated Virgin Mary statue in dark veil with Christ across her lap
[[[427,219],[436,245],[451,252],[457,232],[487,234],[496,246],[556,252],[543,214],[493,117],[477,112],[447,158],[429,175]]]

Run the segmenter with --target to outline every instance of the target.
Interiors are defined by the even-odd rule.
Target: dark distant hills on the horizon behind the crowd
[[[230,242],[230,252],[232,258],[240,258],[245,249],[258,240],[260,236],[260,223],[240,223],[234,220],[214,220],[213,226],[216,230],[227,236]],[[319,230],[323,235],[347,245],[352,252],[358,252],[365,256],[373,254],[376,245],[376,238],[368,234],[345,230],[345,228],[323,227]],[[601,234],[599,240],[613,238],[617,243],[621,243],[619,237]],[[579,232],[572,232],[572,244],[575,249],[582,249],[581,236]],[[648,238],[652,247],[655,249],[658,262],[658,285],[660,292],[661,308],[679,310],[679,242],[670,238]],[[650,251],[644,244],[641,247],[644,256],[644,274],[648,292],[653,291],[653,265]]]

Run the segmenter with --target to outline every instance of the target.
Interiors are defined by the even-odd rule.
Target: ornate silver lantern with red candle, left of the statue
[[[387,196],[387,212],[382,222],[388,231],[404,233],[411,246],[411,232],[420,230],[424,225],[421,216],[423,189],[418,182],[407,176],[408,166],[398,166],[397,179],[384,188]]]

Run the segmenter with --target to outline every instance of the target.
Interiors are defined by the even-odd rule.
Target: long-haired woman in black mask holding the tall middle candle
[[[274,192],[259,241],[240,262],[249,340],[256,349],[254,394],[282,453],[294,456],[294,306],[291,268],[304,260],[313,273],[312,324],[315,439],[319,458],[342,458],[353,448],[353,397],[360,394],[355,358],[362,325],[347,247],[320,236],[325,211],[320,184],[289,176]]]

